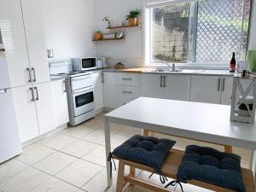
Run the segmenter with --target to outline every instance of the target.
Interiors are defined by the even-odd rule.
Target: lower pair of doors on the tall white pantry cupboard
[[[55,129],[50,82],[15,88],[14,100],[21,143]]]

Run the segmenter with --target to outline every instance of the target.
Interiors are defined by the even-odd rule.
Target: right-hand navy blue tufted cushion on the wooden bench
[[[241,177],[241,157],[214,148],[189,145],[177,171],[177,180],[199,180],[226,189],[246,192]]]

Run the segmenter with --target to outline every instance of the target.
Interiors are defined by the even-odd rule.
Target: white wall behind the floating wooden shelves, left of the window
[[[104,16],[109,16],[111,26],[120,26],[131,9],[142,9],[141,0],[95,0],[95,6],[95,29],[102,32],[109,32]],[[110,58],[111,65],[121,61],[125,67],[143,66],[142,44],[142,27],[126,28],[125,40],[97,42],[97,56]]]

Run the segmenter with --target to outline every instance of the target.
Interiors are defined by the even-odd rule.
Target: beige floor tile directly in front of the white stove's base
[[[67,129],[62,130],[60,133],[69,137],[81,138],[88,135],[90,132],[95,131],[90,128],[79,128],[79,127],[67,127]]]

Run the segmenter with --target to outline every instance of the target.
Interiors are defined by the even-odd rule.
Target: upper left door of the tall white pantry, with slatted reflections
[[[0,0],[0,28],[11,87],[31,84],[20,0]]]

